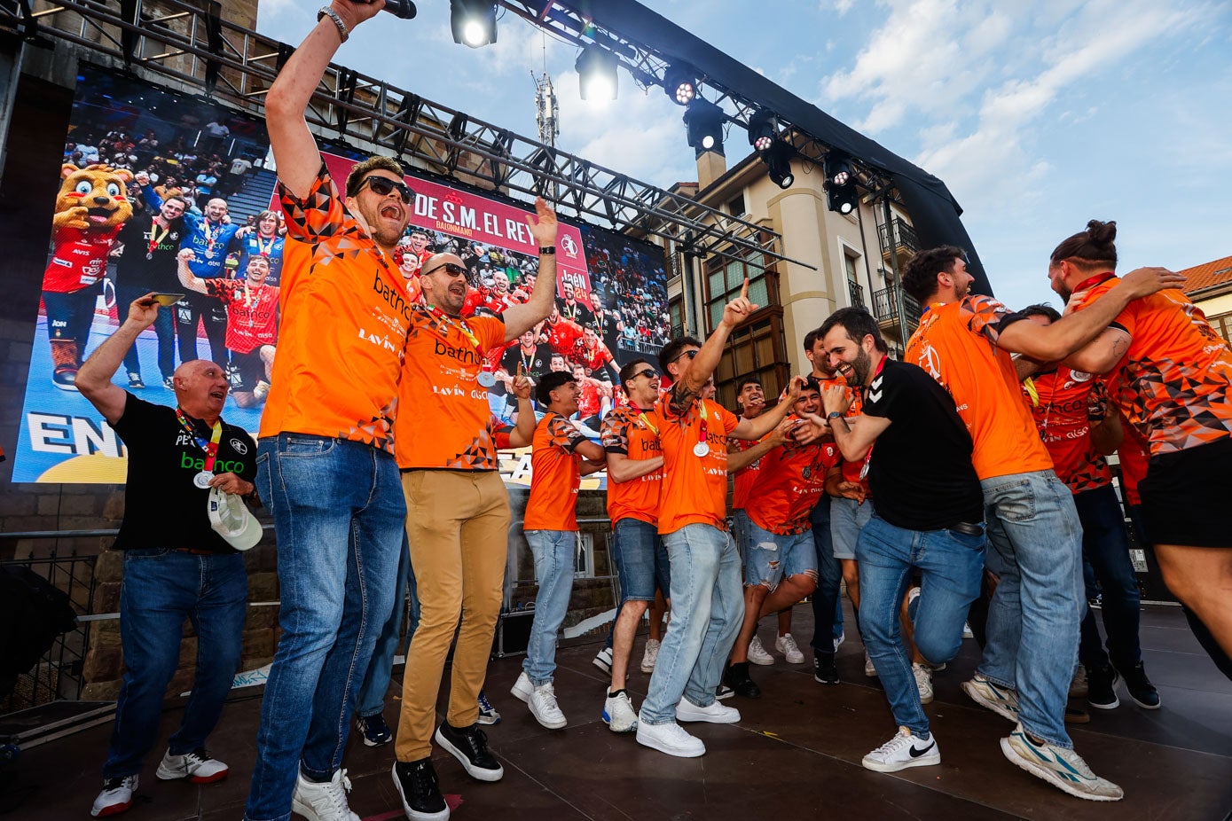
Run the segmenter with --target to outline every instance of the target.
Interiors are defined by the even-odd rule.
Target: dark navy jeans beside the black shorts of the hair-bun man
[[[1121,503],[1112,486],[1104,485],[1074,496],[1074,507],[1082,522],[1083,555],[1104,592],[1101,613],[1108,633],[1108,652],[1104,652],[1095,614],[1088,608],[1082,622],[1078,659],[1088,668],[1104,667],[1111,660],[1117,668],[1129,670],[1142,661],[1138,644],[1142,593],[1130,561],[1130,539],[1125,532]]]

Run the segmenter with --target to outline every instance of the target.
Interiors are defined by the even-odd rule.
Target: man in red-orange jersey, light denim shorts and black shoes
[[[793,410],[817,414],[821,402],[817,380],[808,378]],[[761,457],[761,468],[745,500],[749,523],[744,553],[744,623],[736,638],[732,663],[723,676],[723,683],[737,695],[756,698],[760,694],[749,676],[747,660],[747,655],[752,657],[750,641],[758,622],[769,613],[790,608],[817,587],[817,550],[808,515],[825,492],[825,474],[838,464],[839,451],[834,442],[797,443],[791,431],[798,422],[798,416],[784,420],[761,441],[770,451]],[[780,639],[779,644],[784,641]]]

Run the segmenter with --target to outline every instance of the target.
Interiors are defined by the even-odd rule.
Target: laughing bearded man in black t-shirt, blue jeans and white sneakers
[[[984,566],[983,491],[971,464],[971,435],[954,399],[928,373],[886,357],[869,313],[839,309],[821,336],[839,374],[864,388],[864,410],[851,420],[843,386],[827,388],[822,400],[843,458],[869,468],[873,516],[856,544],[860,630],[899,725],[861,763],[882,773],[939,764],[941,753],[899,635],[898,603],[910,570],[919,570],[915,646],[934,663],[954,659]]]

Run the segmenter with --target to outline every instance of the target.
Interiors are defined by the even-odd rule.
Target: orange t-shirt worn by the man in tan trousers
[[[394,426],[399,468],[496,469],[488,389],[476,379],[483,369],[483,353],[504,343],[503,319],[457,320],[423,303],[411,306],[398,394],[407,412]]]

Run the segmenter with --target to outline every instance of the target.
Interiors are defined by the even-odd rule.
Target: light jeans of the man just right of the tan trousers
[[[577,531],[526,531],[526,543],[535,554],[535,619],[526,643],[522,670],[536,687],[552,681],[556,672],[556,634],[569,612],[573,571],[577,566]]]

